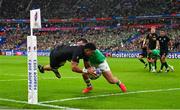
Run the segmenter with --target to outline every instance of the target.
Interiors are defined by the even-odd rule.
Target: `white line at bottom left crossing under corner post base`
[[[19,100],[14,100],[14,99],[5,99],[5,98],[0,98],[0,101],[28,104],[27,101],[19,101]],[[49,107],[49,108],[58,108],[58,109],[76,109],[76,108],[69,108],[69,107],[64,107],[64,106],[41,104],[41,103],[33,104],[33,105],[42,106],[42,107]]]

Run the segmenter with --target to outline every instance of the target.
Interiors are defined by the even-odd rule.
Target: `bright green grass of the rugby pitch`
[[[0,56],[0,98],[27,101],[27,62],[24,56]],[[47,64],[48,57],[38,57],[40,64]],[[159,61],[158,61],[159,62]],[[108,58],[108,63],[115,76],[127,86],[128,92],[180,88],[180,60],[168,59],[175,72],[150,73],[143,68],[138,59]],[[82,67],[82,63],[80,64]],[[158,64],[158,68],[160,65]],[[94,89],[88,94],[81,91],[86,87],[81,75],[73,73],[70,63],[59,69],[62,79],[57,79],[52,72],[38,75],[39,101],[60,100],[74,97],[96,96],[120,93],[116,85],[108,84],[101,76],[92,81]],[[82,100],[47,103],[81,109],[180,109],[180,90],[126,94],[97,97]],[[0,100],[0,108],[50,108]]]

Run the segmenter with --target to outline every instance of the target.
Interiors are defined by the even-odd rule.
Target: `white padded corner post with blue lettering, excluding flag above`
[[[38,103],[38,75],[37,75],[37,39],[27,36],[28,60],[28,103]]]

